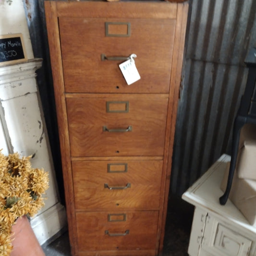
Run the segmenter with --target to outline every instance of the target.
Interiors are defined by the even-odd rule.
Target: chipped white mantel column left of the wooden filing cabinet
[[[3,153],[34,155],[32,166],[49,172],[45,207],[31,220],[40,244],[66,226],[65,208],[59,203],[49,139],[37,91],[36,70],[23,0],[0,1],[0,35],[22,33],[28,61],[0,66],[0,148]]]

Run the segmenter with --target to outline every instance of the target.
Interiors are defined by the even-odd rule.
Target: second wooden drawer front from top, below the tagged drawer
[[[168,98],[120,95],[66,101],[73,157],[163,156]]]

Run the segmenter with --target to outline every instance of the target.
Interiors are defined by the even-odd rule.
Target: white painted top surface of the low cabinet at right
[[[256,232],[256,228],[248,223],[244,215],[235,207],[230,199],[228,199],[224,206],[219,204],[219,197],[223,195],[220,184],[229,161],[230,156],[222,155],[209,170],[182,195],[182,198],[196,207],[210,210],[225,219],[230,219],[248,230]]]

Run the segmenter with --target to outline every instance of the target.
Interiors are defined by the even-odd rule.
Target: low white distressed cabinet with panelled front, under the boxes
[[[256,228],[230,200],[225,206],[219,204],[228,161],[228,155],[219,158],[182,196],[195,206],[190,256],[256,256]]]

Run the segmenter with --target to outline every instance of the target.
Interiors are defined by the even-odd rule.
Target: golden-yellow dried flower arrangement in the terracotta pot
[[[4,156],[0,150],[0,256],[12,251],[12,225],[18,217],[33,216],[44,206],[48,172],[31,167],[31,157]]]

